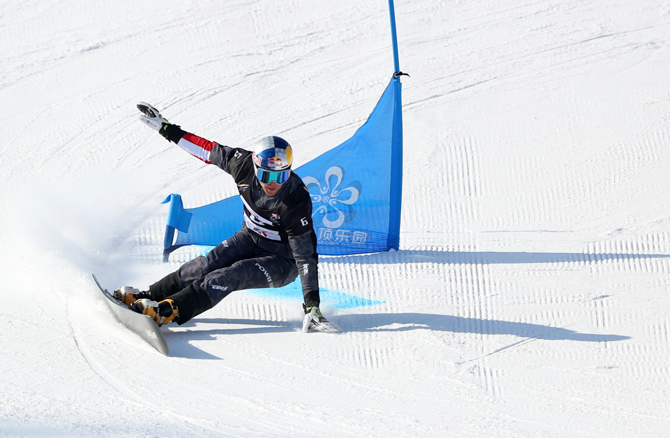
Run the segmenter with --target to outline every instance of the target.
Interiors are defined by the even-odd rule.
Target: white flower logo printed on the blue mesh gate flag
[[[337,180],[332,187],[330,188],[330,177],[335,176]],[[358,200],[358,189],[355,187],[347,187],[342,190],[338,190],[338,186],[342,182],[342,168],[338,166],[333,166],[326,171],[326,185],[322,186],[318,179],[312,176],[306,176],[302,179],[305,183],[305,186],[310,190],[310,184],[316,184],[318,186],[320,194],[314,194],[310,192],[312,196],[312,202],[317,203],[321,202],[322,204],[314,210],[314,214],[323,213],[324,214],[324,226],[328,228],[338,228],[344,224],[345,214],[342,210],[348,210],[349,206]],[[348,198],[347,198],[348,196]],[[337,212],[337,218],[335,220],[329,220],[328,214]]]

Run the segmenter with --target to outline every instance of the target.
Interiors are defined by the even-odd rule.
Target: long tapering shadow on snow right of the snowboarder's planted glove
[[[620,341],[630,336],[598,335],[574,332],[562,327],[495,319],[464,318],[431,313],[372,313],[332,317],[340,332],[404,332],[436,330],[440,332],[515,335],[521,338],[573,340],[587,342]]]

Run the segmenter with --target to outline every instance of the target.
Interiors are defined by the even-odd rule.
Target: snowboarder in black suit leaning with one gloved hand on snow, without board
[[[196,257],[176,272],[139,291],[119,287],[114,297],[149,315],[160,326],[183,324],[212,308],[232,291],[282,287],[300,275],[304,332],[335,332],[319,310],[318,254],[312,226],[312,199],[291,171],[293,153],[280,137],[265,137],[253,151],[208,141],[169,123],[156,108],[137,104],[139,119],[194,157],[217,165],[235,179],[244,204],[242,229],[206,257]]]

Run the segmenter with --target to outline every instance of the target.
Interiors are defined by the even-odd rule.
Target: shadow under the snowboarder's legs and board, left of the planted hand
[[[222,324],[221,328],[198,330],[198,323]],[[230,327],[230,324],[253,325],[254,327]],[[261,327],[258,327],[261,325]],[[170,346],[170,356],[189,359],[221,359],[204,352],[190,341],[214,340],[216,335],[235,335],[253,333],[281,333],[294,332],[295,327],[289,321],[266,321],[263,319],[226,319],[226,318],[194,318],[181,325],[186,330],[180,332],[163,332],[167,344]]]

